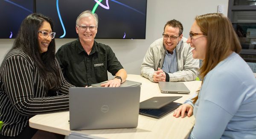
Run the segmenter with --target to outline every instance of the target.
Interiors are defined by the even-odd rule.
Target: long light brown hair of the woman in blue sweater
[[[230,20],[223,14],[204,14],[195,17],[195,21],[201,31],[207,34],[206,55],[199,70],[199,76],[203,83],[204,77],[219,62],[227,58],[233,51],[236,53],[241,51],[241,44]],[[193,99],[193,102],[195,103],[197,99],[198,96]]]

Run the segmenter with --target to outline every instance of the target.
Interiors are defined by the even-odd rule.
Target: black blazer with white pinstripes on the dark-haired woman
[[[56,58],[55,64],[61,73]],[[34,61],[20,49],[12,50],[0,67],[0,134],[17,136],[35,114],[68,111],[68,88],[74,86],[62,73],[61,80],[58,95],[48,97]]]

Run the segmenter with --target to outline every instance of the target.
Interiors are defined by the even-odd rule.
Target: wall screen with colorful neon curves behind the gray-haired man
[[[147,0],[35,0],[36,12],[54,21],[55,38],[77,38],[76,17],[98,14],[96,38],[145,39]]]

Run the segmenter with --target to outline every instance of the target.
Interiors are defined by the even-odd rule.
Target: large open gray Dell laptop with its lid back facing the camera
[[[140,87],[69,88],[70,130],[136,128]]]

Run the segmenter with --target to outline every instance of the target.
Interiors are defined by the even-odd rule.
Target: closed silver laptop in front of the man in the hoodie
[[[189,94],[190,91],[183,82],[159,82],[161,93]]]

